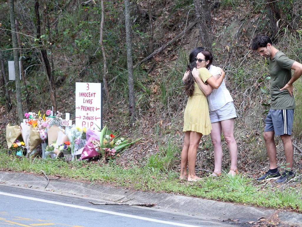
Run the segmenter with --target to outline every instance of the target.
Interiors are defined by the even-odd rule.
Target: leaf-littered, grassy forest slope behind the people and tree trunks
[[[19,20],[23,21],[21,30],[34,35],[34,22],[31,20],[32,1],[17,4]],[[109,59],[108,78],[109,97],[104,99],[103,125],[131,138],[143,139],[127,149],[115,164],[128,168],[131,165],[149,166],[152,171],[177,172],[180,166],[180,152],[184,134],[182,133],[183,112],[187,97],[184,92],[182,75],[186,69],[188,54],[201,41],[198,28],[169,45],[151,60],[134,68],[137,124],[128,127],[128,85],[127,59],[124,47],[123,7],[120,1],[108,1],[106,5],[105,40]],[[74,3],[74,4],[72,4]],[[134,63],[159,48],[194,21],[193,1],[154,1],[153,36],[149,33],[149,5],[143,1],[131,5],[133,21]],[[5,10],[5,3],[2,10]],[[61,4],[61,5],[60,5]],[[64,5],[65,4],[65,5]],[[211,15],[213,24],[214,63],[226,72],[226,85],[233,97],[237,112],[235,120],[235,139],[238,145],[238,169],[248,178],[262,175],[269,161],[262,137],[264,119],[270,107],[269,73],[264,58],[250,50],[252,37],[268,31],[267,11],[262,1],[220,1],[213,5]],[[75,82],[102,81],[103,60],[99,50],[100,9],[92,4],[78,5],[77,1],[56,2],[48,6],[51,30],[44,28],[47,47],[54,64],[59,110],[70,112],[75,117]],[[285,5],[282,16],[289,14]],[[60,11],[59,8],[62,10]],[[28,9],[28,11],[24,11]],[[26,13],[25,13],[26,12]],[[9,22],[1,16],[2,28]],[[293,29],[285,20],[280,21],[276,48],[296,61],[302,62],[302,30]],[[5,23],[7,25],[5,25]],[[301,25],[301,23],[299,24]],[[301,27],[301,26],[300,26]],[[2,48],[9,49],[9,33],[2,31]],[[150,38],[151,37],[151,38]],[[26,45],[35,45],[27,36],[21,37]],[[151,40],[151,41],[150,41]],[[53,44],[50,44],[53,43]],[[151,43],[151,44],[150,44]],[[11,59],[11,51],[4,51],[5,59]],[[49,88],[45,86],[46,76],[39,54],[32,49],[24,50],[24,64],[28,68],[27,87],[31,90],[31,110],[46,110],[50,107]],[[15,96],[14,83],[9,82],[11,96]],[[297,179],[285,189],[301,188],[302,173],[302,82],[295,82],[294,95],[296,109],[294,119],[294,169]],[[5,100],[1,100],[1,139],[5,141],[5,126],[16,122],[15,101],[13,109],[7,112]],[[25,98],[24,98],[25,103]],[[223,135],[223,170],[228,172],[230,158]],[[280,170],[285,166],[283,145],[277,143],[277,158]],[[5,143],[2,143],[5,148]],[[153,170],[152,170],[153,169]],[[201,176],[214,170],[213,146],[209,136],[203,136],[199,144],[196,169]],[[174,175],[173,175],[174,176]],[[175,175],[176,176],[176,175]],[[177,177],[177,176],[176,176]],[[263,187],[266,183],[263,184]]]

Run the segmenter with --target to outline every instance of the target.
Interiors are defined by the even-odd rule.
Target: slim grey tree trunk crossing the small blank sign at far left
[[[19,53],[17,45],[16,24],[14,18],[14,0],[9,0],[9,12],[11,19],[11,36],[14,48],[14,65],[15,65],[15,82],[16,82],[16,98],[19,123],[23,121],[22,99],[21,99],[21,86],[20,86],[20,70],[19,70]]]

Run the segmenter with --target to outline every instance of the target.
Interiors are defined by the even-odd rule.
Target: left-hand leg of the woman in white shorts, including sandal
[[[212,144],[214,146],[214,162],[215,162],[215,173],[221,173],[222,163],[222,146],[221,146],[221,124],[220,121],[214,122],[212,125],[212,131],[210,133]],[[213,176],[217,176],[212,173]]]

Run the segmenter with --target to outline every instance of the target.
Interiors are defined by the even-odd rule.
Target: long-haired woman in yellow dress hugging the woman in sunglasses
[[[185,83],[185,91],[189,96],[184,114],[185,139],[181,154],[181,173],[180,179],[188,181],[198,181],[201,179],[195,174],[196,153],[202,135],[210,134],[212,127],[209,117],[206,93],[208,89],[218,88],[224,76],[217,80],[209,73],[205,67],[209,60],[205,60],[205,51],[202,47],[194,48],[189,55],[188,69],[182,80]],[[198,87],[195,78],[200,78],[204,84],[202,90]],[[210,86],[211,87],[210,87]],[[187,166],[189,165],[189,172]]]

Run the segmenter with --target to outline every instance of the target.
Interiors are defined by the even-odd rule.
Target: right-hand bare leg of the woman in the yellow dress
[[[196,181],[198,179],[201,179],[195,174],[196,153],[201,137],[202,137],[201,133],[193,132],[193,131],[191,131],[190,133],[190,146],[188,150],[188,163],[189,163],[188,181]]]

